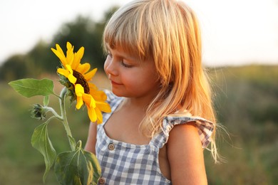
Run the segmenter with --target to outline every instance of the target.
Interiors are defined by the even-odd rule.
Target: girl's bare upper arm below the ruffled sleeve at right
[[[170,131],[168,159],[173,184],[207,184],[202,144],[194,123],[176,125]]]

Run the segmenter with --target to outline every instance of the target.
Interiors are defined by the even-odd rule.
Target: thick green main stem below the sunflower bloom
[[[60,107],[61,107],[61,116],[63,118],[63,127],[65,127],[66,129],[66,134],[68,135],[68,142],[71,145],[71,150],[73,151],[76,147],[76,144],[73,142],[73,137],[71,134],[71,129],[68,125],[68,120],[66,118],[66,92],[67,92],[67,88],[63,88],[63,90],[61,90],[61,94],[60,94]]]

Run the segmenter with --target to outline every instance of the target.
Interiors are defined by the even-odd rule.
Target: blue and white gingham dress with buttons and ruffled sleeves
[[[111,139],[103,126],[123,100],[105,91],[112,112],[103,114],[103,124],[98,125],[96,156],[101,164],[102,176],[98,184],[171,184],[160,171],[159,149],[168,141],[175,125],[195,121],[199,127],[202,147],[210,143],[213,124],[201,117],[165,117],[163,131],[156,134],[149,144],[135,145]]]

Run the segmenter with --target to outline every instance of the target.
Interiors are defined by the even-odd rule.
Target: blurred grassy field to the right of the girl
[[[206,160],[210,184],[277,184],[278,66],[212,70],[221,134],[220,153],[227,163]]]

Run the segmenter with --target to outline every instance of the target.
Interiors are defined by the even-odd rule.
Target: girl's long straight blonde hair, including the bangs
[[[165,116],[188,111],[216,122],[210,84],[202,68],[200,28],[195,13],[181,1],[132,1],[105,26],[103,45],[120,47],[155,63],[161,89],[150,102],[140,129],[148,137],[161,131]],[[211,142],[217,161],[215,130]]]

